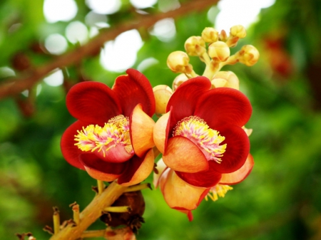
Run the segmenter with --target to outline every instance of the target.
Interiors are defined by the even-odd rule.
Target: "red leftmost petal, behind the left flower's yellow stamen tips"
[[[81,128],[86,125],[81,121],[76,121],[71,124],[61,137],[60,147],[61,152],[65,160],[73,165],[73,167],[78,167],[80,169],[85,169],[83,164],[79,161],[79,155],[83,154],[77,146],[75,146],[75,135],[77,134],[77,130],[81,130]]]

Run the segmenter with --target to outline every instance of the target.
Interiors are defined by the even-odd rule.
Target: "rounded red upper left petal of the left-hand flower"
[[[103,125],[121,114],[121,106],[113,90],[98,82],[74,85],[67,94],[66,105],[74,118],[91,124]]]

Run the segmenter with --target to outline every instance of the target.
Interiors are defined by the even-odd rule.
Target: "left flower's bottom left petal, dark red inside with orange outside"
[[[105,162],[91,153],[80,155],[79,159],[85,166],[86,172],[88,172],[91,177],[106,182],[117,179],[126,168],[126,162]]]

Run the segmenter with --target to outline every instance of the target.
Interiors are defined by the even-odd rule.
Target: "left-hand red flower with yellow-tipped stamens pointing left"
[[[155,98],[148,79],[134,69],[119,76],[113,88],[78,83],[66,105],[78,120],[63,133],[61,151],[74,167],[91,177],[118,184],[142,182],[153,170]]]

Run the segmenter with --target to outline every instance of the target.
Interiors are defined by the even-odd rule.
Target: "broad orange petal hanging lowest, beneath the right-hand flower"
[[[194,187],[183,181],[169,168],[161,176],[160,187],[168,206],[180,210],[196,209],[203,200],[204,193],[208,192],[205,187]]]

